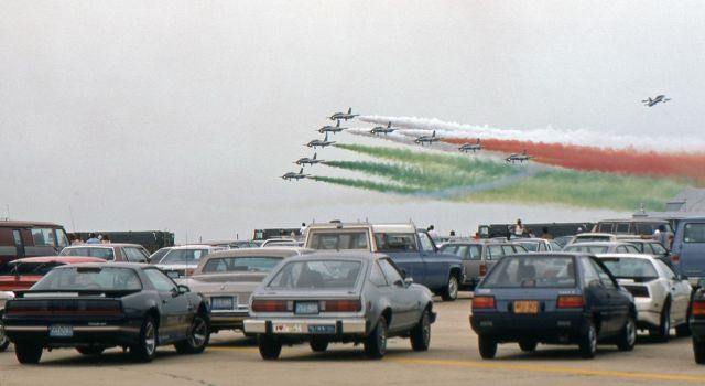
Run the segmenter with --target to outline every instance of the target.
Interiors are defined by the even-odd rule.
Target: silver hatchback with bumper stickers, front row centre
[[[426,287],[404,279],[388,256],[364,251],[288,258],[254,290],[250,310],[245,332],[257,334],[264,360],[300,342],[315,352],[330,342],[362,343],[368,357],[379,358],[392,336],[409,336],[414,351],[425,351],[435,321]]]

